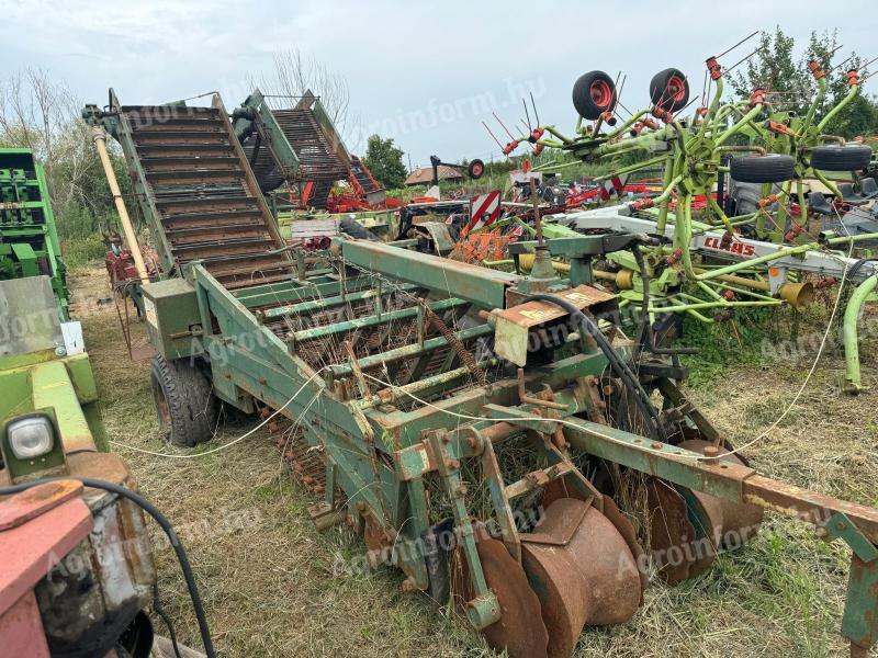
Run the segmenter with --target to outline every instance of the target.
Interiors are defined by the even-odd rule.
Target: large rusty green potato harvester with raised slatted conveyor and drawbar
[[[646,561],[690,578],[751,536],[763,509],[797,515],[852,547],[842,632],[867,655],[878,510],[758,475],[683,395],[680,370],[650,351],[649,328],[626,338],[590,262],[649,240],[539,240],[529,276],[415,240],[339,237],[306,259],[268,226],[237,258],[238,225],[272,219],[221,107],[86,112],[121,143],[171,253],[200,231],[188,245],[203,256],[144,286],[172,443],[209,440],[217,401],[284,421],[318,527],[361,531],[370,564],[402,569],[406,591],[454,597],[510,656],[569,656],[584,626],[637,613]],[[196,151],[194,168],[183,158]],[[571,262],[569,277],[552,256]],[[615,501],[632,489],[648,507],[639,531]]]

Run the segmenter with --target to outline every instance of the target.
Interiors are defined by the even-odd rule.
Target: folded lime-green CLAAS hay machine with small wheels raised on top
[[[844,315],[844,387],[858,392],[856,318],[878,281],[878,269],[871,261],[858,263],[864,254],[857,253],[856,246],[875,240],[878,234],[848,236],[843,226],[809,234],[811,204],[803,188],[806,179],[815,179],[841,200],[841,192],[825,172],[868,167],[868,146],[845,144],[824,134],[832,117],[860,92],[858,72],[848,71],[848,93],[818,117],[826,79],[824,65],[812,61],[809,69],[815,80],[814,98],[806,114],[796,117],[772,113],[770,94],[759,89],[744,101],[724,101],[727,72],[716,57],[707,60],[707,68],[712,100],[686,118],[678,113],[688,106],[688,81],[677,69],[666,69],[653,78],[652,105],[627,121],[614,114],[618,98],[612,79],[603,71],[584,73],[573,91],[579,115],[573,136],[542,125],[513,139],[504,151],[510,154],[519,144],[531,144],[534,149],[571,154],[574,163],[612,162],[631,154],[645,154],[605,178],[663,168],[662,189],[654,197],[556,217],[575,231],[634,231],[660,238],[660,245],[644,249],[644,268],[638,266],[631,253],[618,253],[609,257],[607,271],[600,274],[620,284],[622,305],[634,307],[640,305],[643,281],[648,280],[653,318],[679,313],[714,322],[740,308],[781,304],[799,308],[813,299],[812,284],[803,273],[862,286],[852,295]],[[562,171],[569,166],[550,162],[537,169]],[[720,207],[714,191],[720,177],[727,174],[761,186],[755,211],[729,216],[727,208]],[[822,194],[819,201],[823,201]],[[798,205],[795,212],[792,203]],[[833,211],[825,202],[823,206],[825,214],[841,219],[837,208]],[[563,232],[563,228],[560,230]]]

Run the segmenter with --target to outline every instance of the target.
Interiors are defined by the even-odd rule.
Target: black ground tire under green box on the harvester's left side
[[[213,438],[217,400],[210,379],[187,359],[150,362],[150,384],[156,415],[165,441],[192,447]]]

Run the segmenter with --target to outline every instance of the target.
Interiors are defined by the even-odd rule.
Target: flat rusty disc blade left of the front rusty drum
[[[509,658],[547,656],[549,634],[542,622],[540,601],[530,589],[521,565],[509,555],[503,542],[484,532],[477,533],[476,540],[485,581],[500,605],[500,619],[482,629],[488,646],[497,653],[505,649]],[[460,583],[460,595],[465,603],[475,593],[463,551],[458,549],[457,556],[455,582]]]

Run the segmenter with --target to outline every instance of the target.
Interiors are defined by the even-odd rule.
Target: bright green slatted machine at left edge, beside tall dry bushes
[[[30,150],[0,148],[0,279],[40,274],[52,280],[66,320],[68,292],[46,173]]]

